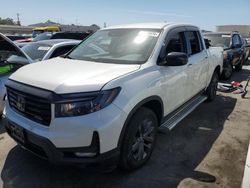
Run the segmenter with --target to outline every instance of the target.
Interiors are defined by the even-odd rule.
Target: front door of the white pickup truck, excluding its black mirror
[[[185,28],[177,28],[168,33],[165,44],[162,47],[160,59],[164,59],[168,53],[187,53],[184,36]],[[188,80],[188,66],[159,66],[161,73],[161,91],[164,96],[164,106],[167,108],[164,115],[172,112],[190,97],[190,81]]]

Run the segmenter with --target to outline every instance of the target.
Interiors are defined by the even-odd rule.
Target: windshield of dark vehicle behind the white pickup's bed
[[[205,39],[208,39],[210,41],[211,46],[214,47],[223,47],[223,48],[229,48],[230,47],[230,41],[231,36],[230,35],[205,35]]]

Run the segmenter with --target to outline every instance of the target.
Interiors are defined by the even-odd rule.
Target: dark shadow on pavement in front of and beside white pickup
[[[1,178],[4,187],[177,187],[185,178],[215,182],[216,177],[196,171],[221,134],[236,99],[218,96],[204,103],[173,131],[158,134],[151,160],[133,172],[116,169],[102,174],[89,168],[55,166],[20,147],[5,161]]]

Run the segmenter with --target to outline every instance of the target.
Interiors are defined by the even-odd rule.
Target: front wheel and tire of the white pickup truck
[[[119,166],[134,170],[144,165],[155,146],[158,120],[148,108],[140,108],[131,118],[121,147]]]

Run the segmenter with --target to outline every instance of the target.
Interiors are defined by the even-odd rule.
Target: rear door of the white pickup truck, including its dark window
[[[209,71],[208,54],[198,28],[187,28],[185,32],[187,43],[188,92],[190,98],[206,88]]]

